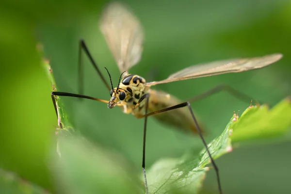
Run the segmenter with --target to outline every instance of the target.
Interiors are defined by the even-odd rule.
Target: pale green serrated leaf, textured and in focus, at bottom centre
[[[230,136],[238,116],[234,114],[223,133],[208,146],[213,159],[232,150]],[[198,156],[188,153],[181,159],[163,159],[156,162],[147,173],[148,187],[152,194],[195,194],[209,170],[210,158],[206,149]]]

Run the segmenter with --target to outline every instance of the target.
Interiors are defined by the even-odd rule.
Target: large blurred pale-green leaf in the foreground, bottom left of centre
[[[76,136],[59,137],[61,156],[51,163],[60,193],[139,194],[143,181],[120,155]]]

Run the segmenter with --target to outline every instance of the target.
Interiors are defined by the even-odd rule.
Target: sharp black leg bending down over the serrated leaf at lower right
[[[198,133],[199,133],[199,136],[200,136],[200,138],[201,138],[201,140],[202,140],[202,142],[203,142],[203,144],[204,144],[204,146],[205,146],[205,148],[206,148],[206,151],[208,152],[208,155],[209,155],[210,161],[211,161],[211,163],[212,163],[212,165],[213,165],[213,167],[214,167],[214,169],[215,169],[216,177],[217,177],[217,182],[218,182],[219,193],[222,194],[222,188],[221,188],[220,177],[219,177],[219,173],[218,173],[218,167],[217,167],[217,165],[215,164],[215,162],[214,162],[214,160],[213,160],[213,158],[212,158],[212,156],[211,156],[211,154],[210,154],[210,151],[209,151],[208,146],[207,146],[207,144],[206,144],[206,142],[205,142],[205,140],[204,140],[204,138],[203,138],[203,135],[202,135],[201,129],[199,128],[199,125],[198,125],[197,120],[196,120],[196,118],[195,118],[195,116],[194,116],[194,113],[193,113],[193,111],[192,111],[192,108],[191,108],[191,105],[190,105],[190,102],[189,102],[189,101],[187,101],[187,102],[183,102],[183,103],[180,103],[180,104],[177,104],[177,105],[175,105],[175,106],[171,106],[171,107],[168,107],[168,108],[165,108],[165,109],[161,109],[161,110],[159,110],[159,111],[155,111],[155,112],[152,112],[152,113],[148,113],[148,114],[146,113],[143,117],[146,118],[147,116],[151,116],[151,115],[158,114],[158,113],[163,113],[163,112],[166,112],[166,111],[171,111],[171,110],[178,109],[178,108],[182,108],[182,107],[186,107],[186,106],[188,107],[188,109],[189,109],[189,111],[190,111],[190,113],[191,113],[191,115],[192,115],[192,118],[193,118],[194,123],[195,123],[196,128],[197,128],[197,131],[198,131]],[[146,125],[145,125],[145,126],[146,126]],[[144,139],[144,140],[145,140],[145,139]]]

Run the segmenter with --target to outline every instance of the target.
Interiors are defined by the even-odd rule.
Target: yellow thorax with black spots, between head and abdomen
[[[146,100],[143,100],[137,109],[133,109],[139,99],[148,93],[149,87],[145,86],[145,83],[143,77],[134,74],[129,74],[122,79],[119,87],[126,91],[126,98],[122,101],[124,113],[136,114],[142,110]]]

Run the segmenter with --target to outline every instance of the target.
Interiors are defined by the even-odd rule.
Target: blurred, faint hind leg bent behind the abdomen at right
[[[246,94],[230,87],[229,85],[222,84],[222,85],[218,85],[218,86],[216,86],[216,87],[214,87],[214,88],[212,88],[212,89],[210,89],[210,90],[208,90],[208,91],[206,91],[198,96],[192,97],[192,98],[188,99],[188,101],[194,102],[194,101],[209,97],[209,96],[216,94],[218,92],[221,92],[221,91],[226,91],[231,96],[236,97],[236,98],[238,98],[246,103],[250,103],[251,100],[254,99],[254,98],[249,97]],[[254,101],[256,103],[259,103],[259,101],[256,99],[254,99]]]

